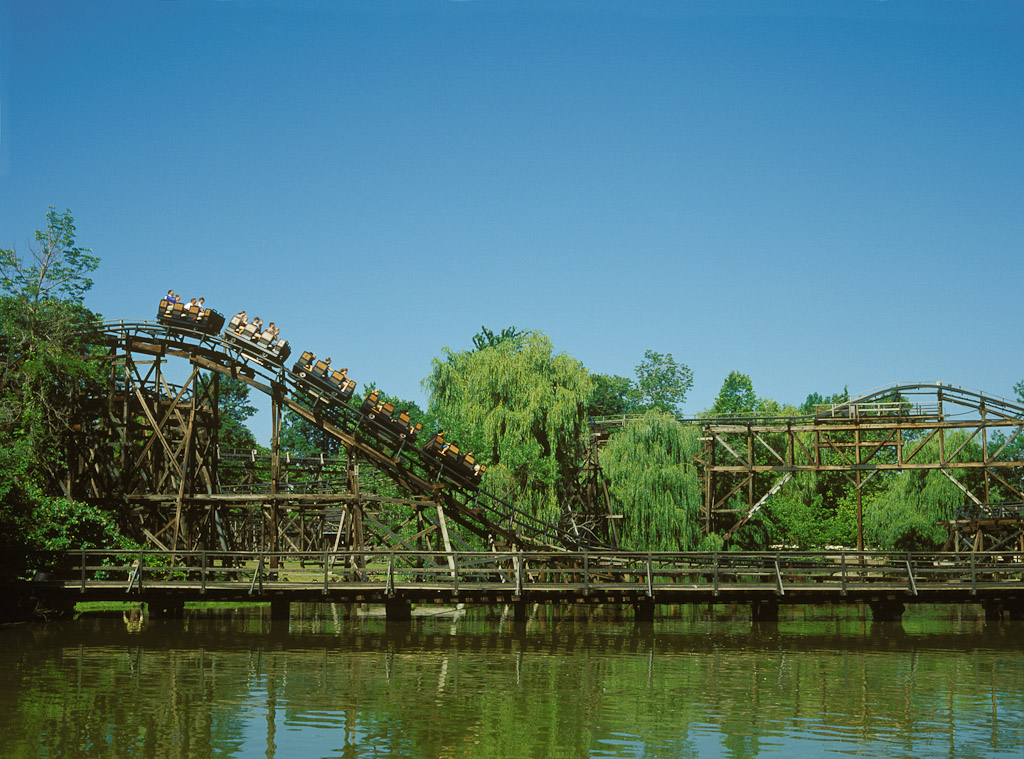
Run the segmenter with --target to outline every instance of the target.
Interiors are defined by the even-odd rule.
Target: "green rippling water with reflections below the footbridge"
[[[373,609],[371,609],[373,612]],[[3,757],[1024,756],[1024,623],[979,607],[343,606],[0,630]]]

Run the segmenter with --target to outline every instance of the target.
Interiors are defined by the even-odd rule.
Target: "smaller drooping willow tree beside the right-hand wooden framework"
[[[700,529],[700,478],[693,465],[699,429],[649,411],[616,432],[601,452],[613,505],[623,514],[623,548],[692,551],[720,547]]]

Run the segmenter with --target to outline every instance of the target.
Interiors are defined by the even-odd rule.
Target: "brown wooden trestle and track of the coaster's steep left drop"
[[[118,511],[130,535],[158,550],[582,545],[579,531],[566,533],[486,493],[438,481],[414,450],[361,429],[351,408],[309,402],[300,377],[217,336],[119,322],[104,325],[100,338],[105,391],[79,399],[82,423],[60,484],[69,497]],[[172,380],[182,367],[183,380]],[[222,377],[269,397],[269,450],[219,445]],[[336,440],[340,453],[282,452],[285,410]]]

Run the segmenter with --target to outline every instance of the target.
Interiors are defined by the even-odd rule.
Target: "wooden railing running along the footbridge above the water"
[[[194,591],[310,591],[358,587],[589,592],[694,589],[714,596],[732,590],[770,590],[779,596],[808,590],[844,594],[866,588],[921,591],[1024,583],[1024,552],[896,553],[880,551],[766,553],[239,551],[71,552],[56,581],[82,593],[123,588]]]

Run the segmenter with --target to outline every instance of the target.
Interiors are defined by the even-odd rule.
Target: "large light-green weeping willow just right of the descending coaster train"
[[[444,348],[424,380],[446,440],[487,466],[483,487],[553,520],[575,486],[593,390],[584,366],[541,332]]]

